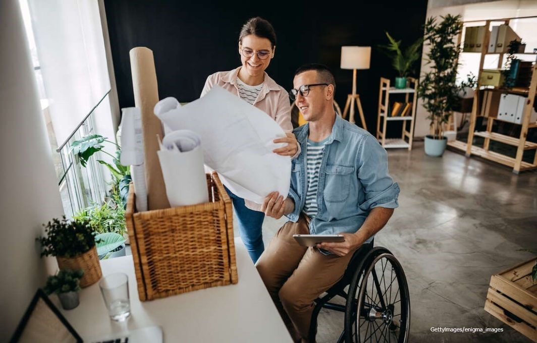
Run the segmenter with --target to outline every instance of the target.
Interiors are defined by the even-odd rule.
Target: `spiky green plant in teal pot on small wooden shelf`
[[[388,55],[391,59],[391,65],[399,73],[399,77],[395,78],[395,87],[403,89],[407,87],[407,76],[412,68],[412,65],[419,60],[420,47],[422,46],[423,39],[418,38],[415,42],[407,47],[404,52],[401,50],[401,41],[393,39],[388,32],[388,45],[379,45],[382,51]]]

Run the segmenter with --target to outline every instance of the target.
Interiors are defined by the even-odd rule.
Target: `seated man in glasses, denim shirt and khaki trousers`
[[[262,210],[289,221],[256,267],[297,342],[308,341],[315,299],[342,278],[362,244],[369,243],[398,206],[399,187],[375,137],[336,115],[330,70],[296,70],[289,97],[308,121],[294,130],[302,152],[293,160],[289,194],[269,194]],[[342,243],[299,245],[293,235],[340,234]]]

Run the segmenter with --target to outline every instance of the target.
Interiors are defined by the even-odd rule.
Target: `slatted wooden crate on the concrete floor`
[[[535,258],[492,275],[485,311],[537,342],[537,280]]]

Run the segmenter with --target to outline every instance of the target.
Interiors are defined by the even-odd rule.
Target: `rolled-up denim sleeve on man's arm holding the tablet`
[[[375,207],[397,208],[400,188],[388,173],[388,155],[379,142],[367,135],[356,157],[358,179],[364,187],[365,199],[358,206],[363,211]]]

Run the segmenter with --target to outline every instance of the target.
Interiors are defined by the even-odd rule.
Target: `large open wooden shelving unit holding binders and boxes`
[[[524,18],[537,18],[537,17],[524,17]],[[481,45],[482,47],[481,52],[476,52],[477,54],[481,54],[481,59],[480,59],[480,64],[479,64],[479,75],[478,75],[479,78],[477,80],[477,89],[474,95],[474,104],[473,104],[472,112],[470,115],[470,127],[469,127],[469,132],[468,132],[468,141],[466,143],[461,142],[461,141],[451,141],[451,142],[448,142],[447,144],[450,147],[464,151],[467,157],[470,157],[471,155],[475,155],[475,156],[479,156],[485,159],[489,159],[494,162],[512,167],[513,173],[518,174],[519,172],[524,171],[524,170],[537,168],[537,143],[529,142],[526,140],[528,129],[537,127],[537,122],[532,122],[532,123],[529,122],[531,114],[532,114],[533,104],[535,101],[535,92],[537,88],[537,63],[535,63],[532,67],[533,74],[532,74],[531,82],[530,82],[528,89],[510,89],[510,90],[495,89],[496,91],[499,91],[502,93],[517,94],[520,96],[527,97],[527,101],[524,106],[523,122],[521,124],[512,123],[512,125],[521,125],[520,136],[512,137],[512,136],[507,136],[507,135],[503,135],[500,133],[492,132],[493,123],[495,120],[498,120],[498,119],[491,118],[491,117],[487,117],[487,129],[485,131],[475,132],[477,114],[481,113],[480,108],[478,108],[480,106],[480,101],[479,101],[480,96],[481,96],[480,93],[482,93],[485,90],[489,90],[489,91],[491,90],[490,88],[483,88],[483,89],[481,88],[481,72],[483,71],[485,55],[491,54],[491,53],[488,53],[489,40],[490,40],[490,24],[491,22],[497,23],[498,21],[503,21],[505,24],[509,25],[509,21],[512,19],[521,19],[521,18],[484,20],[485,27],[487,27],[488,30],[485,30],[483,42]],[[470,21],[465,22],[465,24],[466,23],[470,23]],[[459,43],[461,42],[461,40],[462,40],[462,32],[459,34]],[[471,52],[468,52],[468,53],[471,53]],[[504,53],[499,53],[498,68],[502,67],[503,55]],[[535,55],[535,54],[526,53],[524,55]],[[474,136],[483,137],[485,139],[483,148],[473,145]],[[514,147],[517,147],[516,157],[513,158],[510,156],[499,154],[498,152],[489,151],[490,141],[501,142],[504,144],[509,144],[509,145],[513,145]],[[535,150],[535,157],[533,159],[533,163],[524,162],[522,160],[525,150]]]

